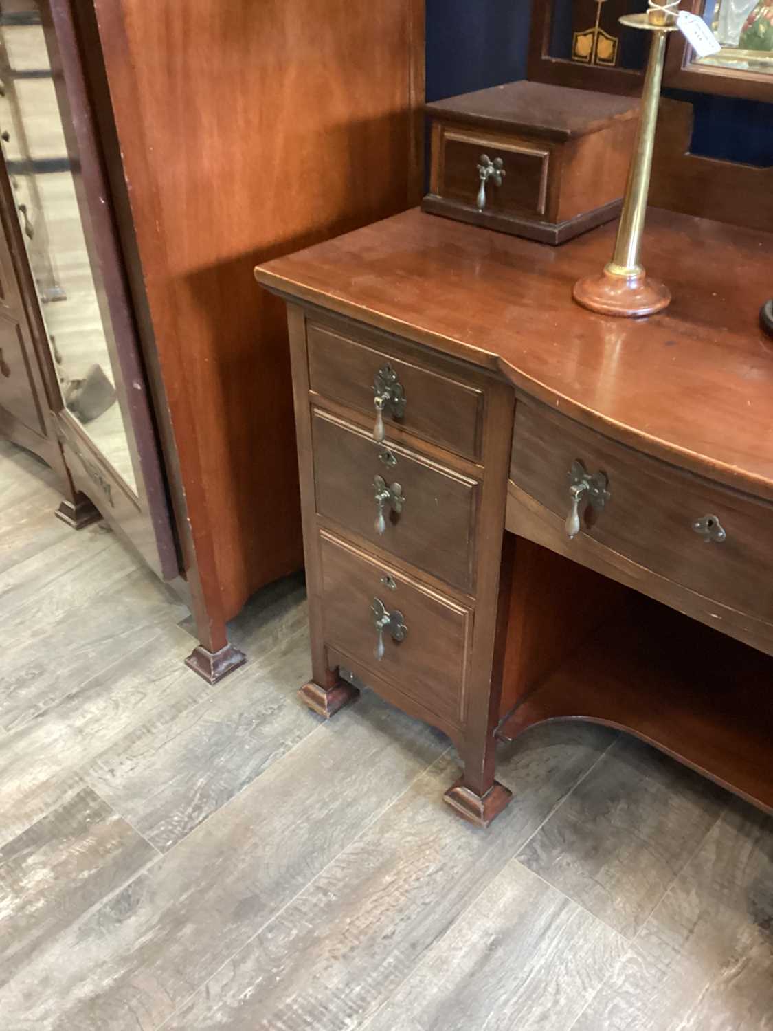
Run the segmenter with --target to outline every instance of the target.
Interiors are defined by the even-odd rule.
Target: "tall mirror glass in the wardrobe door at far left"
[[[39,0],[0,0],[0,94],[3,153],[65,405],[136,493],[112,327]]]

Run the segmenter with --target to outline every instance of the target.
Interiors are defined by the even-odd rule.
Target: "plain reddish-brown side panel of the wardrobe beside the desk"
[[[284,313],[251,269],[416,197],[424,5],[95,6],[187,565],[220,621],[302,564]]]

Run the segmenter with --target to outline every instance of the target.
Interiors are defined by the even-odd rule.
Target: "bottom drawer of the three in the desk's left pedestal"
[[[320,550],[325,592],[325,643],[358,666],[394,684],[429,713],[461,726],[472,613],[325,531]],[[400,613],[405,628],[396,641],[383,632],[383,656],[376,658],[378,633],[373,603]]]

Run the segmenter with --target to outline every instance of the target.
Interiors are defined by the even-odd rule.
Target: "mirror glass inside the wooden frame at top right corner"
[[[722,48],[698,64],[773,74],[771,0],[706,0],[703,19]]]

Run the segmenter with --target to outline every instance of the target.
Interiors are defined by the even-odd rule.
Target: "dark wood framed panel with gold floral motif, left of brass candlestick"
[[[529,78],[604,93],[639,93],[646,35],[624,28],[619,19],[646,9],[646,0],[534,0]]]

